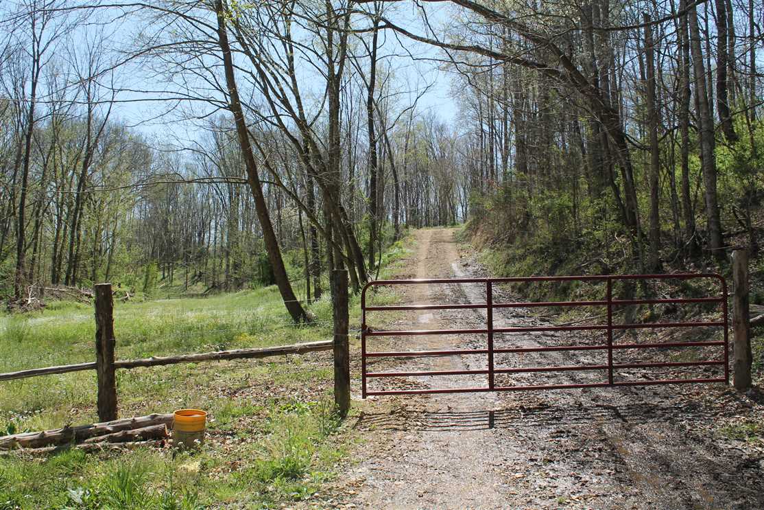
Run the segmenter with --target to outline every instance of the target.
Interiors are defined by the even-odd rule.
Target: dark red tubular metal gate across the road
[[[709,297],[682,297],[664,299],[613,299],[613,283],[617,281],[640,281],[640,280],[696,280],[711,279],[718,281],[720,294]],[[525,282],[604,282],[605,297],[603,300],[589,301],[553,301],[553,302],[494,302],[494,284],[525,283]],[[367,291],[371,287],[393,285],[421,285],[421,284],[484,284],[486,300],[477,304],[416,304],[416,305],[392,305],[392,306],[368,306]],[[698,322],[659,322],[659,323],[613,323],[614,309],[637,304],[720,304],[721,317],[719,320]],[[494,310],[498,308],[525,308],[525,307],[604,307],[607,314],[607,323],[591,325],[565,325],[565,326],[532,326],[532,327],[495,327]],[[374,330],[367,324],[367,312],[392,311],[392,310],[458,310],[474,309],[486,310],[486,326],[478,329],[446,329],[446,330]],[[627,275],[603,275],[603,276],[557,276],[557,277],[533,277],[533,278],[454,278],[432,280],[380,280],[371,281],[361,292],[361,372],[363,384],[363,397],[368,395],[417,395],[426,393],[461,393],[469,391],[522,391],[558,388],[597,388],[606,386],[639,386],[639,385],[663,385],[691,382],[727,382],[729,383],[729,349],[728,349],[728,320],[727,320],[727,281],[719,274],[627,274]],[[682,341],[662,343],[615,343],[613,332],[619,330],[637,330],[643,328],[692,328],[692,327],[723,327],[724,339],[714,341]],[[531,346],[531,347],[500,347],[494,346],[494,335],[497,333],[539,333],[555,331],[577,330],[602,330],[604,340],[595,345],[565,345],[565,346]],[[484,349],[446,349],[446,350],[406,350],[406,351],[374,351],[369,352],[369,339],[379,336],[420,336],[420,335],[452,335],[452,334],[484,334],[487,343]],[[715,351],[721,359],[703,359],[681,362],[629,362],[614,363],[613,352],[620,349],[664,349],[681,347],[706,347],[717,346]],[[607,351],[607,363],[599,365],[562,365],[562,366],[534,366],[524,368],[500,368],[494,362],[497,354],[512,354],[521,352],[561,352],[561,351]],[[425,356],[487,356],[487,369],[470,370],[438,370],[438,371],[413,371],[413,372],[368,372],[367,360],[378,358],[416,358]],[[637,380],[614,380],[614,374],[621,369],[641,369],[658,367],[692,367],[692,366],[724,366],[724,377],[704,378],[659,378]],[[522,372],[575,372],[575,371],[603,371],[604,377],[601,382],[553,384],[553,385],[497,385],[494,378],[497,374],[513,374]],[[370,390],[367,388],[369,378],[391,378],[410,376],[439,376],[439,375],[487,375],[487,384],[484,386],[467,388],[426,388],[426,389],[387,389]]]

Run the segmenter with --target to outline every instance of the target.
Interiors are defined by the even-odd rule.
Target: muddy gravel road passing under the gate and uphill
[[[416,232],[400,278],[484,276],[452,229]],[[406,303],[470,303],[470,285],[406,287]],[[417,312],[396,327],[484,324],[484,310]],[[528,310],[494,314],[497,326],[539,323]],[[525,334],[525,333],[523,333]],[[533,334],[533,333],[531,333]],[[484,336],[403,336],[375,350],[483,346]],[[557,338],[547,339],[555,341]],[[497,340],[499,341],[499,340]],[[543,336],[506,342],[537,345]],[[542,355],[539,355],[542,356]],[[544,360],[550,364],[549,355]],[[562,353],[552,363],[596,362]],[[515,365],[517,359],[497,363]],[[533,359],[522,360],[523,364]],[[380,362],[371,369],[478,369],[481,356]],[[512,384],[569,383],[597,374],[513,375]],[[398,388],[483,385],[474,376],[374,381]],[[480,376],[484,378],[484,376]],[[373,386],[374,387],[374,386]],[[357,508],[764,508],[762,444],[730,440],[720,424],[762,420],[762,399],[724,385],[574,389],[370,398],[354,427],[363,440],[329,505]]]

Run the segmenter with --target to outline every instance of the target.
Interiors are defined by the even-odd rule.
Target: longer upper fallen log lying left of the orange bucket
[[[115,434],[121,430],[142,429],[151,426],[171,426],[173,414],[149,414],[147,416],[122,418],[121,420],[105,421],[99,424],[79,425],[77,427],[62,427],[42,432],[26,432],[0,437],[0,450],[11,448],[39,448],[66,443],[82,443],[91,438]]]

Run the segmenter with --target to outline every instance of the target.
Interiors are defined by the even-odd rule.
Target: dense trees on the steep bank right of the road
[[[380,24],[447,52],[476,225],[558,259],[626,239],[642,272],[759,249],[758,2],[437,3],[445,34]]]

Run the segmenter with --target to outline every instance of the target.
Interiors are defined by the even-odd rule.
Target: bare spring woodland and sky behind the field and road
[[[548,271],[758,249],[758,0],[120,4],[0,7],[8,300],[275,283],[305,320],[295,287],[358,288],[406,227],[465,220]],[[141,102],[193,136],[125,122]]]

